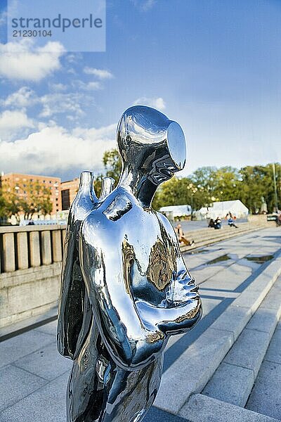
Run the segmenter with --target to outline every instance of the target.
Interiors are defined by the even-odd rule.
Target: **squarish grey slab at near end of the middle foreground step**
[[[202,394],[244,407],[254,384],[251,369],[221,362]]]

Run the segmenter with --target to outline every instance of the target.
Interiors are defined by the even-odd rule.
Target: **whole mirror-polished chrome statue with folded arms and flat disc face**
[[[117,187],[100,200],[91,186],[78,195],[67,229],[75,248],[79,242],[79,255],[66,243],[58,323],[60,353],[74,359],[68,422],[141,421],[157,395],[169,336],[190,330],[202,312],[174,229],[151,207],[159,184],[185,165],[181,127],[134,106],[119,121],[117,143]]]

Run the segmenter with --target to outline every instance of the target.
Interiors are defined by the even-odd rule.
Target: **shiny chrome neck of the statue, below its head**
[[[143,174],[129,166],[124,167],[118,186],[132,193],[144,208],[151,207],[157,190],[157,185],[148,179],[148,174]]]

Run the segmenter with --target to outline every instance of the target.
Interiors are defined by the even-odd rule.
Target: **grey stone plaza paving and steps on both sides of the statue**
[[[202,321],[166,348],[145,422],[281,420],[281,229],[185,254],[200,284]],[[0,422],[63,422],[71,362],[56,321],[0,343]],[[129,422],[129,421],[122,421]]]

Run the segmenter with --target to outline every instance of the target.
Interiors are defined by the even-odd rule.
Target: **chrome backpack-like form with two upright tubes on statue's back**
[[[79,230],[81,222],[99,200],[93,188],[92,172],[82,172],[77,196],[70,207],[63,254],[63,270],[58,312],[58,350],[65,357],[74,358],[89,331],[92,312],[81,274],[79,260]],[[102,194],[112,191],[114,179],[103,177]]]

